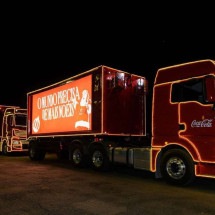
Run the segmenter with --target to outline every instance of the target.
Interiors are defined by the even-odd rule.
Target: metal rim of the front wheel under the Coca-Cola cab
[[[186,173],[186,165],[180,158],[170,158],[166,165],[168,175],[174,179],[181,179]]]

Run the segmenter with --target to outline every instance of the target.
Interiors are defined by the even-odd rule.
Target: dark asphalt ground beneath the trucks
[[[52,154],[0,156],[2,215],[214,215],[215,180],[175,187],[152,173],[74,169]]]

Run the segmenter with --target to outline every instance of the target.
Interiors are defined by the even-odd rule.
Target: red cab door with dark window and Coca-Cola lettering
[[[215,161],[214,102],[206,100],[204,78],[172,86],[172,102],[179,103],[179,135],[196,148],[201,161]]]

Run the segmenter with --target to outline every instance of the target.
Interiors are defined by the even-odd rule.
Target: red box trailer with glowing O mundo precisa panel
[[[78,166],[95,146],[102,145],[109,156],[110,146],[141,144],[146,91],[144,77],[99,66],[28,93],[30,158],[44,159],[54,151]],[[73,160],[76,148],[86,159]]]

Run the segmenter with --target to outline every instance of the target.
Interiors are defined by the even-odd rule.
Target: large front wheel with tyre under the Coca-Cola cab
[[[167,183],[188,185],[195,178],[193,160],[184,150],[169,150],[161,159],[161,174]]]

